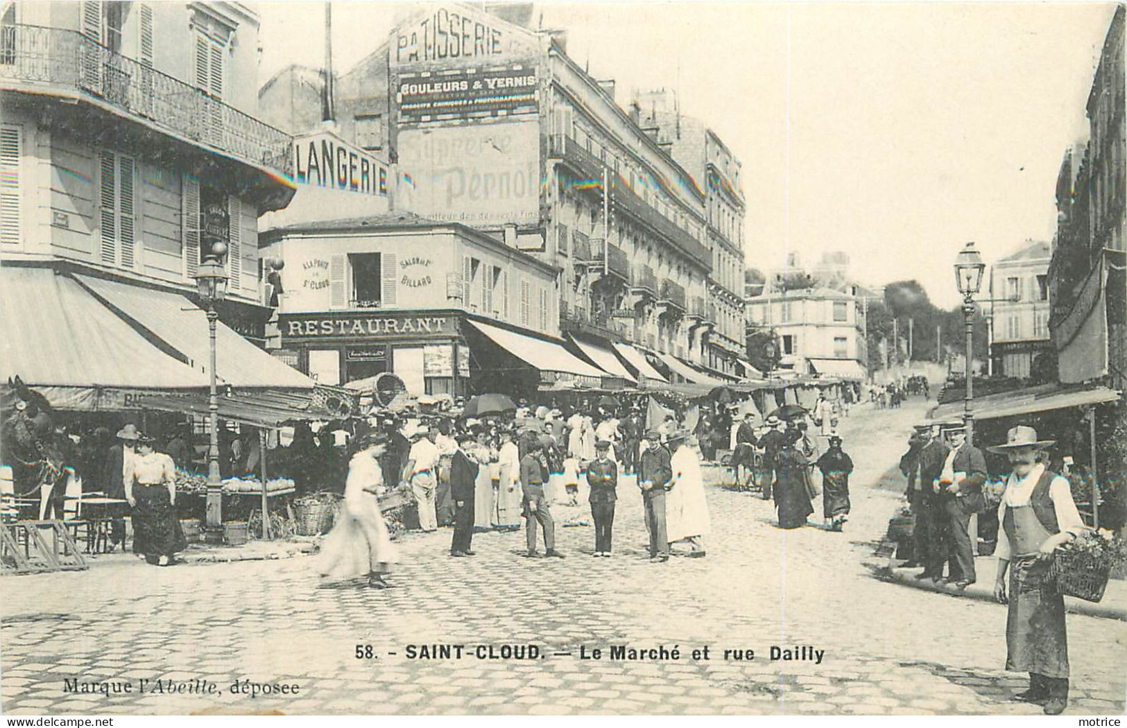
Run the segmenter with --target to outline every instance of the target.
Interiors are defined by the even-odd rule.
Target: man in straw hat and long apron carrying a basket
[[[1064,597],[1049,584],[1053,551],[1084,531],[1068,481],[1038,456],[1054,444],[1037,440],[1032,427],[1012,428],[991,452],[1008,455],[1013,472],[999,504],[997,577],[994,597],[1009,603],[1005,668],[1029,673],[1029,690],[1018,700],[1042,703],[1059,714],[1068,703],[1068,639]],[[1010,572],[1006,589],[1005,575]]]

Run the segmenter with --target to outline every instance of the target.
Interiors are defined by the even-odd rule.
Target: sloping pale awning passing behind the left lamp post
[[[206,372],[211,345],[207,314],[203,309],[177,293],[90,276],[74,277],[134,328],[143,329],[158,345],[178,353],[197,371]],[[259,389],[313,388],[313,380],[270,356],[222,322],[216,327],[215,352],[215,372],[224,384]]]

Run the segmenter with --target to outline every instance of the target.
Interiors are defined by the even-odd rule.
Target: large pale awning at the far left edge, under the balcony
[[[95,388],[206,388],[207,375],[145,339],[66,275],[5,266],[0,273],[0,376],[50,388],[55,406],[94,409]],[[64,390],[70,390],[66,392]],[[76,397],[77,390],[90,397]],[[85,405],[82,402],[86,402]]]

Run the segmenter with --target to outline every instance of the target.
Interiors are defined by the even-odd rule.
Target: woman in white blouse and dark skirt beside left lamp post
[[[125,479],[125,498],[133,508],[133,552],[158,566],[171,566],[188,547],[176,514],[176,465],[153,451],[152,437],[137,440],[133,472]]]

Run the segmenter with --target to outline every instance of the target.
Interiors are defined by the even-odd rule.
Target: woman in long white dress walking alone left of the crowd
[[[399,562],[399,551],[391,542],[376,497],[384,490],[380,456],[387,450],[388,435],[366,435],[360,446],[348,463],[345,499],[321,545],[317,566],[326,581],[367,575],[367,585],[382,589],[391,586],[383,575]]]

